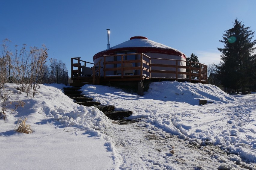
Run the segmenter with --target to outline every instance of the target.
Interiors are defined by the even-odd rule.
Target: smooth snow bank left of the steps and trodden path
[[[20,91],[14,89],[14,84],[7,86],[11,95],[9,101],[22,100],[25,106],[16,111],[8,110],[6,122],[0,121],[1,169],[114,167],[107,136],[96,131],[111,123],[102,112],[75,104],[59,89],[63,85],[41,85],[34,98],[18,94]],[[8,107],[14,109],[14,103]],[[13,130],[17,120],[25,117],[32,134]]]

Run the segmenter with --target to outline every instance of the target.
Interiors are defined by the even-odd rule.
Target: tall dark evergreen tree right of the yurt
[[[256,50],[256,40],[252,41],[254,32],[249,28],[235,19],[233,28],[225,31],[223,40],[220,40],[224,48],[218,48],[222,53],[222,61],[217,66],[221,84],[237,92],[239,88],[245,88],[253,82],[253,53]]]

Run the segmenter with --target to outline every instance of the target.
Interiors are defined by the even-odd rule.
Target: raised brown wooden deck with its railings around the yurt
[[[137,55],[138,60],[124,60],[124,56]],[[111,57],[121,56],[120,61],[113,61]],[[84,84],[106,84],[110,82],[121,81],[188,81],[191,83],[207,83],[207,66],[201,63],[183,60],[171,60],[171,59],[159,59],[152,58],[143,53],[135,54],[118,54],[118,55],[106,55],[98,63],[90,63],[81,60],[80,57],[71,58],[71,72],[73,83],[70,86],[83,86]],[[111,60],[111,61],[109,61]],[[165,64],[159,64],[165,63]],[[170,62],[175,64],[169,64]],[[182,63],[181,64],[178,63]],[[127,66],[126,63],[132,63],[133,66]],[[191,64],[196,63],[198,67],[192,67]],[[88,66],[90,65],[90,66]],[[118,67],[117,67],[118,65]],[[185,65],[185,66],[184,66]],[[91,68],[91,76],[83,76],[82,66]],[[161,69],[153,69],[161,68]],[[181,72],[180,70],[186,70]],[[136,74],[126,75],[126,72],[133,72]],[[111,74],[109,74],[111,73]],[[119,73],[119,75],[116,75]],[[172,78],[165,77],[152,77],[154,73],[167,73],[174,75]],[[186,78],[178,78],[179,75],[186,75]]]

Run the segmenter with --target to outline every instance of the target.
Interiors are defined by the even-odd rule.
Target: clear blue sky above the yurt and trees
[[[93,62],[93,55],[141,35],[201,63],[218,63],[222,34],[234,20],[256,30],[254,0],[0,0],[0,40],[49,48],[49,59]],[[255,37],[254,37],[255,39]]]

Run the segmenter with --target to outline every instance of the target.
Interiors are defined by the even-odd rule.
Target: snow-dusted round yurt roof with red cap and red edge
[[[131,37],[130,40],[128,41],[125,41],[121,44],[111,47],[110,49],[106,49],[104,51],[101,51],[95,54],[93,56],[93,60],[95,60],[96,58],[102,57],[103,55],[114,55],[116,51],[129,51],[129,50],[134,50],[136,51],[136,53],[153,52],[153,53],[178,55],[183,58],[186,58],[185,54],[183,54],[181,51],[178,51],[174,48],[168,47],[158,42],[154,42],[152,40],[148,40],[147,37],[134,36],[134,37]]]

